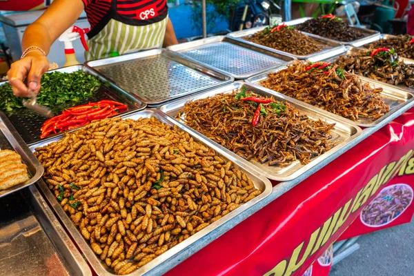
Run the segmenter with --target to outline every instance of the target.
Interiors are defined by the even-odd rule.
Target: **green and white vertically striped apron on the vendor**
[[[99,34],[88,40],[89,51],[85,52],[85,59],[103,59],[110,57],[112,52],[124,55],[139,50],[161,48],[167,23],[168,16],[146,26],[130,26],[110,19]]]

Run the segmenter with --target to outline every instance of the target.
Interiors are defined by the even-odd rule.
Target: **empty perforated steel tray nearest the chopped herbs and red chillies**
[[[88,61],[86,66],[149,106],[233,81],[222,72],[163,49]]]

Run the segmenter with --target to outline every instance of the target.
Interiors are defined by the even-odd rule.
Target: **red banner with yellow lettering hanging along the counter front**
[[[411,158],[413,112],[375,132],[166,275],[302,275],[380,193],[381,181],[371,185],[372,179],[391,162]],[[388,171],[384,181],[386,176]]]

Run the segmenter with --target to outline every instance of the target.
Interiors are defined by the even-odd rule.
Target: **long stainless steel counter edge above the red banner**
[[[326,158],[324,160],[324,162],[321,162],[321,163],[317,164],[315,167],[313,167],[311,170],[308,170],[307,172],[305,172],[300,177],[297,177],[297,178],[295,178],[291,181],[280,182],[279,184],[277,184],[276,186],[273,187],[272,193],[270,193],[270,195],[268,195],[268,197],[262,199],[262,201],[259,201],[257,204],[255,204],[254,206],[252,206],[248,210],[244,211],[243,214],[241,214],[237,217],[233,217],[233,219],[230,219],[225,224],[222,224],[221,226],[215,228],[215,230],[213,232],[211,232],[210,234],[205,235],[204,237],[199,239],[199,242],[197,242],[195,244],[192,244],[191,246],[188,246],[188,248],[186,248],[186,250],[184,250],[181,253],[179,253],[179,254],[175,255],[174,257],[170,258],[168,260],[168,262],[169,262],[168,266],[164,266],[163,268],[161,268],[161,267],[155,268],[152,271],[150,271],[150,274],[148,274],[148,275],[161,275],[161,274],[166,273],[168,270],[174,268],[175,266],[177,266],[178,264],[183,262],[185,259],[187,259],[191,255],[193,255],[194,253],[196,253],[200,249],[202,249],[205,246],[207,246],[208,244],[210,244],[210,242],[213,242],[215,239],[217,239],[218,237],[220,237],[221,235],[226,233],[228,230],[230,230],[231,228],[237,226],[237,224],[244,221],[244,219],[250,217],[250,215],[253,215],[258,210],[264,208],[264,206],[267,206],[268,204],[270,204],[270,202],[277,199],[277,197],[280,197],[281,195],[286,193],[287,190],[290,190],[291,188],[293,188],[294,186],[296,186],[300,182],[304,181],[304,179],[306,179],[309,176],[313,175],[315,172],[317,172],[318,170],[320,170],[321,168],[323,168],[324,166],[329,164],[331,161],[335,160],[337,157],[342,155],[344,152],[346,152],[349,149],[353,148],[355,145],[359,144],[361,141],[363,141],[364,139],[366,139],[367,137],[372,135],[374,132],[376,132],[377,130],[379,130],[383,126],[386,126],[386,124],[388,124],[390,121],[393,121],[393,119],[399,117],[400,115],[402,115],[402,113],[404,113],[406,110],[412,108],[413,106],[414,106],[414,101],[412,101],[410,104],[404,106],[404,108],[401,108],[400,110],[395,112],[393,115],[388,117],[386,121],[380,122],[380,124],[377,124],[377,126],[375,126],[375,127],[366,128],[362,132],[362,135],[357,137],[355,140],[351,141],[351,143],[344,146],[341,150],[338,150],[335,153],[335,155],[331,155],[330,157]]]

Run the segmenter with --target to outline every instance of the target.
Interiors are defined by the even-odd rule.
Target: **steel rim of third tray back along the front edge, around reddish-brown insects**
[[[264,79],[268,79],[268,75],[272,72],[279,72],[280,70],[286,69],[288,66],[282,66],[277,68],[276,70],[271,70],[269,72],[263,73],[262,75],[257,75],[255,77],[251,77],[249,79],[246,79],[246,83],[250,83],[251,85],[262,88],[267,92],[271,92],[273,90],[270,90],[268,88],[264,88],[259,84],[260,81]],[[365,128],[376,126],[377,124],[380,124],[382,121],[388,121],[388,118],[393,115],[393,113],[397,112],[400,108],[403,108],[404,106],[408,105],[413,101],[414,97],[411,95],[408,90],[403,90],[400,88],[397,88],[396,86],[390,86],[388,84],[382,83],[380,81],[374,81],[373,79],[368,79],[366,77],[360,77],[362,82],[368,82],[371,84],[371,86],[374,87],[381,87],[383,88],[383,91],[381,92],[381,98],[385,101],[386,105],[390,107],[390,111],[386,113],[386,115],[380,117],[379,119],[375,121],[371,121],[368,119],[359,119],[358,121],[352,121],[350,119],[342,118],[345,121],[348,121],[349,124],[357,124],[357,126],[362,126]],[[273,91],[274,93],[277,93],[278,95],[283,95],[280,92]],[[293,99],[291,97],[287,97],[284,95],[287,99]],[[295,101],[297,101],[295,99]],[[302,102],[302,101],[301,101]],[[311,108],[313,110],[322,110],[321,108],[317,108],[315,106],[311,106],[308,103],[303,103],[308,108]],[[324,110],[325,111],[325,110]],[[326,112],[326,111],[325,111]],[[329,112],[330,113],[330,112]]]

